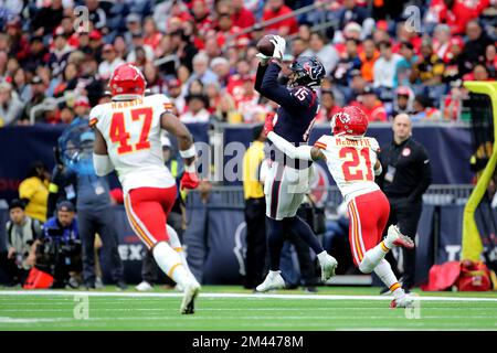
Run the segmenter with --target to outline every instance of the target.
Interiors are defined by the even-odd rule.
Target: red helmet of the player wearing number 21
[[[361,108],[347,106],[331,118],[334,136],[362,137],[368,130],[368,116]]]

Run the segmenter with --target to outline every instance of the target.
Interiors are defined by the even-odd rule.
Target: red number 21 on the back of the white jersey
[[[346,181],[373,181],[369,147],[360,150],[353,147],[343,147],[338,156],[345,160],[341,170]]]

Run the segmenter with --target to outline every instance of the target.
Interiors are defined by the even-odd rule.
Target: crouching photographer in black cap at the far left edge
[[[34,243],[42,235],[38,220],[25,214],[25,203],[19,199],[9,205],[10,221],[6,224],[7,252],[0,253],[0,268],[8,277],[8,286],[23,285],[34,265]],[[31,254],[31,255],[30,255]]]

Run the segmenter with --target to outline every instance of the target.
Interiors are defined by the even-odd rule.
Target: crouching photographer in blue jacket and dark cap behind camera
[[[36,267],[54,277],[52,288],[80,286],[82,246],[75,208],[70,201],[60,202],[56,216],[43,225],[43,238],[35,252]]]

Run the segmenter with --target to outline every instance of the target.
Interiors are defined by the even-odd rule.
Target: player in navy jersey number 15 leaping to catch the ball
[[[277,81],[282,69],[279,63],[286,41],[274,35],[272,56],[257,54],[255,89],[264,97],[279,105],[273,119],[273,130],[287,141],[307,145],[310,129],[319,109],[316,89],[325,77],[325,67],[316,56],[300,56],[295,60],[287,86]],[[337,260],[326,253],[309,225],[296,215],[305,194],[309,191],[311,165],[306,160],[292,160],[276,148],[271,151],[271,163],[264,181],[266,217],[268,220],[269,272],[256,290],[264,292],[284,288],[285,280],[279,271],[279,257],[285,234],[290,232],[300,236],[317,254],[321,266],[321,280],[335,275]]]

